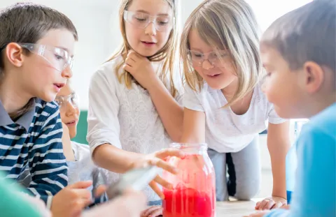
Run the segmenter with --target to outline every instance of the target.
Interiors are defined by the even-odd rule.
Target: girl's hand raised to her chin
[[[158,76],[147,57],[137,54],[130,50],[123,66],[144,89],[149,90],[155,82],[158,82]]]

